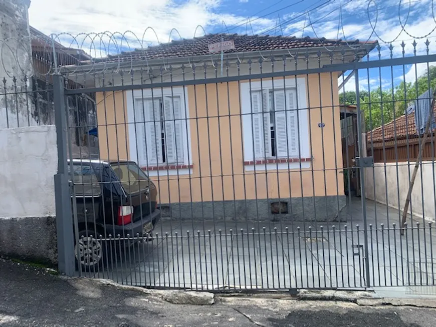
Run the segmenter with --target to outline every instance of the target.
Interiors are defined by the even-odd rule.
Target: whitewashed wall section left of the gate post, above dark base
[[[55,215],[54,125],[0,129],[0,219]]]

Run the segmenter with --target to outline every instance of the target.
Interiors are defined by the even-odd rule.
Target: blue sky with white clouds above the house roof
[[[32,0],[29,9],[31,26],[94,57],[208,33],[378,40],[382,58],[389,58],[390,43],[393,57],[402,56],[402,41],[412,55],[413,40],[423,55],[428,38],[434,54],[435,17],[436,0]],[[361,76],[359,84],[389,88],[425,69],[408,66],[403,74],[396,67],[393,78],[389,69]],[[353,89],[352,78],[346,90]]]

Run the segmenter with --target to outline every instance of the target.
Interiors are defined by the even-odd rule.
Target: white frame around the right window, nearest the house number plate
[[[252,92],[262,92],[268,90],[268,92],[274,92],[282,90],[285,93],[288,90],[294,89],[296,90],[296,104],[298,108],[298,140],[300,151],[299,155],[292,156],[289,152],[287,157],[282,156],[263,156],[262,158],[256,158],[254,151],[254,140],[253,140],[253,125],[252,125]],[[286,95],[285,95],[286,96]],[[243,120],[243,144],[244,144],[244,162],[256,162],[257,160],[271,160],[271,159],[306,159],[310,157],[310,147],[309,147],[309,123],[308,123],[308,109],[307,109],[307,97],[308,94],[306,92],[306,79],[305,78],[286,78],[285,82],[283,79],[274,80],[274,88],[273,81],[271,80],[263,80],[253,81],[253,82],[243,82],[241,83],[241,114]],[[274,98],[273,98],[274,99]],[[274,101],[274,100],[273,100]],[[289,132],[289,125],[288,125]],[[277,135],[276,139],[277,139]],[[289,140],[289,135],[288,135]],[[309,162],[302,162],[302,167],[310,165]],[[279,169],[287,169],[288,163],[279,163]],[[292,162],[290,166],[297,165],[299,168],[300,163]],[[247,170],[254,170],[255,168],[253,164],[245,165]],[[251,166],[251,167],[250,167]],[[265,164],[257,165],[260,169],[265,169]],[[263,166],[263,167],[261,167]],[[269,167],[270,166],[270,167]],[[274,166],[274,167],[273,167]],[[285,167],[286,166],[286,167]],[[277,169],[277,164],[267,164],[267,169]]]

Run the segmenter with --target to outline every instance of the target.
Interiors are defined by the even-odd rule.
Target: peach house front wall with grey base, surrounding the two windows
[[[313,160],[303,163],[301,170],[299,163],[292,163],[289,171],[285,165],[286,169],[272,169],[267,172],[265,168],[263,170],[260,168],[257,169],[256,174],[253,170],[249,171],[247,167],[244,167],[238,83],[229,83],[229,93],[227,83],[207,84],[206,88],[204,85],[197,86],[195,89],[193,86],[186,87],[190,118],[192,173],[182,176],[160,174],[159,178],[152,177],[159,189],[160,203],[171,203],[174,207],[172,216],[181,214],[186,218],[192,215],[198,218],[206,216],[211,218],[213,212],[215,217],[235,218],[235,214],[232,214],[235,212],[232,205],[234,201],[238,202],[240,208],[245,208],[245,200],[262,199],[265,200],[262,201],[263,209],[256,210],[257,212],[241,209],[239,213],[236,213],[236,218],[249,216],[257,219],[260,216],[262,219],[267,219],[269,216],[268,202],[278,201],[280,198],[288,202],[289,215],[281,215],[283,218],[315,219],[316,212],[316,219],[335,219],[338,197],[340,208],[345,205],[343,175],[341,174],[342,146],[337,75],[331,76],[330,73],[321,74],[320,77],[311,75],[308,81],[306,81],[306,76],[298,76],[298,78],[307,82],[304,83],[307,84],[305,86],[307,89],[306,103],[310,107],[307,138],[311,138],[312,141]],[[283,82],[283,79],[281,81]],[[244,82],[248,81],[241,83]],[[106,93],[104,96],[102,93],[96,94],[102,158],[113,160],[129,158],[136,161],[136,155],[131,156],[129,153],[129,130],[126,128],[129,126],[127,112],[129,95],[127,92],[117,92],[115,95]],[[155,94],[159,95],[160,92],[159,89]],[[207,116],[212,118],[207,119]],[[318,126],[321,121],[324,123],[323,128]],[[304,201],[301,199],[302,196],[305,198]],[[300,200],[290,201],[291,197],[300,198]],[[222,201],[229,201],[230,211],[224,209],[225,205],[220,204]],[[191,213],[190,202],[193,202],[196,213]],[[210,204],[207,204],[210,208],[217,203],[216,209],[204,209],[206,202]],[[251,209],[256,207],[256,204],[253,206],[252,202],[250,201],[248,205]],[[327,207],[333,208],[332,210],[326,208],[326,202]],[[183,203],[185,209],[180,209],[178,203]],[[291,203],[293,209],[290,208]],[[305,205],[312,205],[312,208],[308,208],[303,217],[302,208]],[[222,209],[219,210],[219,207]]]

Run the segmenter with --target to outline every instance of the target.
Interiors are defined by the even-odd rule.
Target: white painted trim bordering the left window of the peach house
[[[163,97],[180,97],[180,106],[181,106],[181,112],[182,112],[182,118],[186,119],[186,124],[183,121],[183,162],[179,162],[179,165],[192,165],[192,147],[191,147],[191,131],[190,131],[190,124],[189,124],[189,104],[188,104],[188,92],[187,88],[183,87],[176,87],[176,88],[164,88],[159,90],[152,90],[151,89],[144,89],[144,90],[133,90],[132,91],[125,91],[126,92],[126,100],[127,100],[127,121],[128,121],[128,131],[129,131],[129,150],[130,150],[130,160],[136,161],[139,166],[149,166],[150,163],[143,162],[139,160],[139,154],[137,151],[137,146],[139,147],[139,144],[136,144],[137,138],[135,133],[135,115],[133,112],[133,103],[137,99],[156,99]],[[133,94],[132,94],[133,93]],[[141,108],[142,109],[142,108]],[[137,108],[135,108],[137,110]],[[187,129],[186,129],[187,128]],[[188,153],[188,149],[189,152]],[[175,173],[173,174],[172,171]],[[153,174],[153,173],[156,174]],[[149,176],[157,176],[157,170],[156,171],[149,171]],[[159,176],[160,175],[177,175],[177,170],[159,170]],[[190,174],[191,170],[188,169],[180,169],[179,174],[180,175],[186,175]]]

